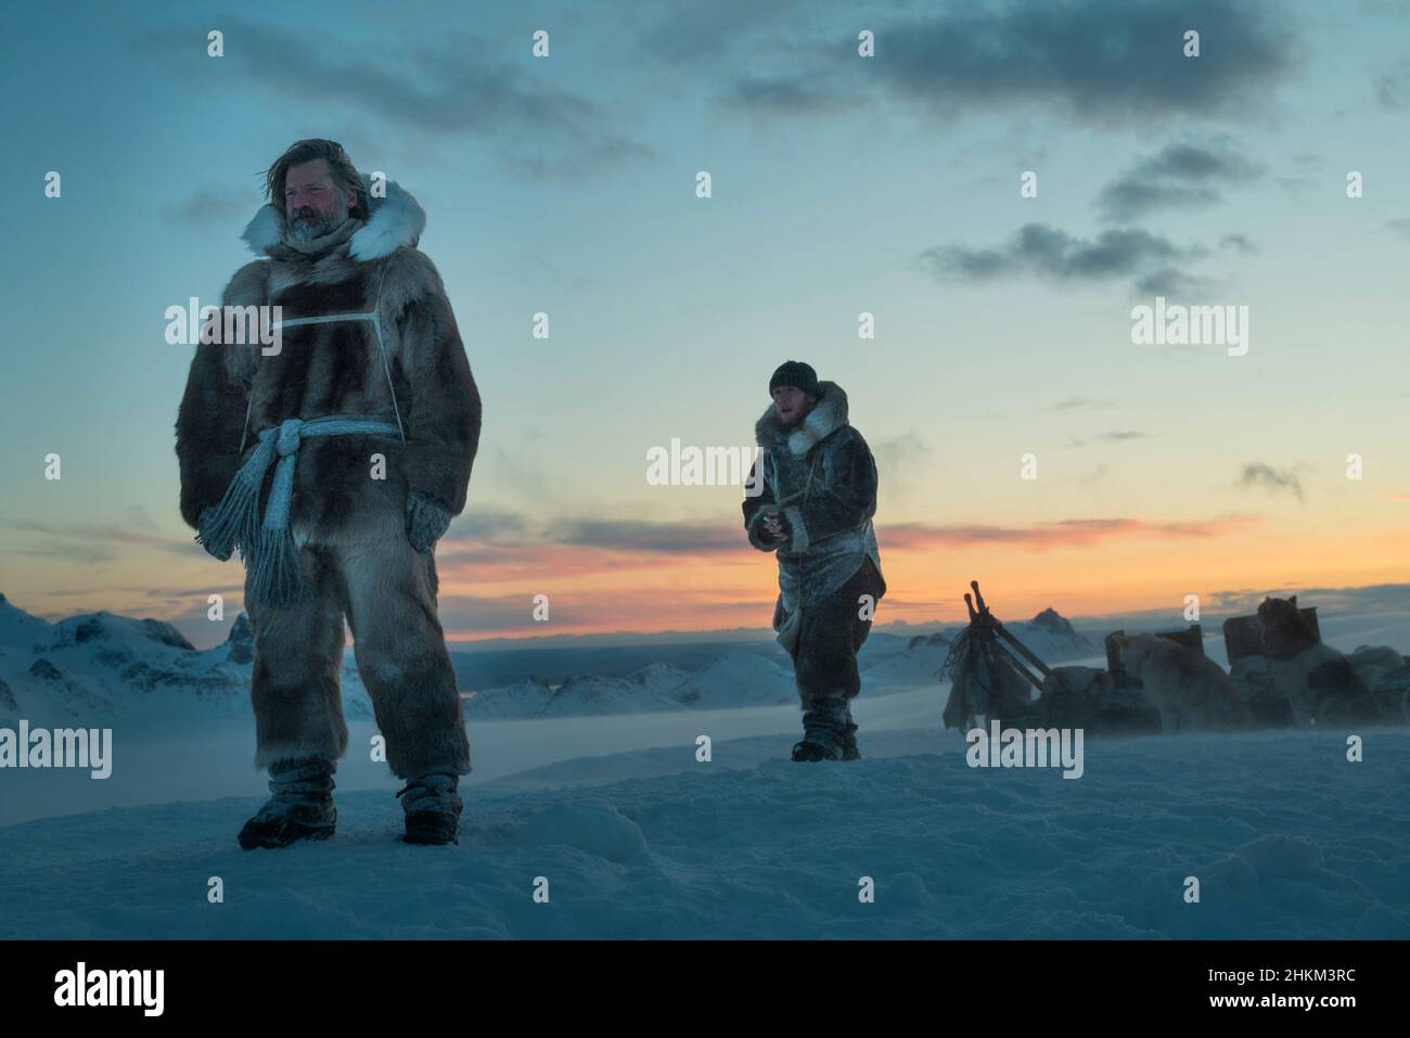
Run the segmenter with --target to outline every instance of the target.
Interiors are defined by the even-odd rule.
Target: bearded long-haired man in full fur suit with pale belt
[[[176,420],[182,516],[248,571],[255,766],[274,795],[240,842],[333,832],[347,618],[388,764],[406,780],[406,838],[444,843],[470,746],[433,551],[465,506],[479,393],[416,248],[426,216],[410,195],[386,182],[379,197],[319,140],[292,145],[266,188],[244,234],[264,258],[221,302],[279,307],[276,348],[197,346]]]

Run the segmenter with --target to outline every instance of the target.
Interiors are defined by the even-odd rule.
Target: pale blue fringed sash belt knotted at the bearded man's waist
[[[299,553],[289,529],[293,503],[293,464],[299,444],[309,436],[399,436],[400,423],[385,417],[327,415],[305,422],[290,417],[259,432],[259,446],[230,481],[220,505],[203,523],[196,540],[216,556],[228,558],[235,549],[245,560],[250,599],[257,605],[283,608],[307,592]],[[259,518],[259,489],[275,457],[264,519]]]

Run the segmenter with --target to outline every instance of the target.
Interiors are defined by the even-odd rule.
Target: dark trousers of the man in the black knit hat
[[[883,594],[881,574],[869,557],[852,580],[818,605],[801,611],[791,656],[804,709],[808,709],[811,700],[833,695],[852,700],[862,691],[857,650],[871,633],[871,621],[862,619],[860,599],[862,595],[871,595],[874,608]],[[787,622],[788,613],[780,599],[774,629],[778,630]]]

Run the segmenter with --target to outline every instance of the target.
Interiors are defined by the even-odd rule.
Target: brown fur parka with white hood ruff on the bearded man
[[[382,199],[369,188],[364,178],[368,220],[350,219],[314,254],[285,243],[276,206],[264,206],[245,228],[250,248],[264,258],[235,272],[223,307],[279,306],[283,322],[375,307],[384,343],[379,348],[369,320],[338,320],[281,329],[278,353],[266,354],[258,341],[197,346],[176,417],[180,512],[192,527],[220,502],[262,429],[336,413],[391,417],[398,409],[405,446],[396,434],[303,440],[293,485],[296,539],[357,540],[360,529],[365,535],[375,526],[362,516],[400,513],[410,491],[451,515],[464,509],[479,444],[479,392],[440,275],[416,248],[424,212],[396,183],[386,183]],[[385,478],[372,477],[376,454],[385,458]]]

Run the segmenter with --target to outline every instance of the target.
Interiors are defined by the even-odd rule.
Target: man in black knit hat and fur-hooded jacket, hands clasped
[[[877,468],[847,395],[801,361],[768,379],[744,499],[749,543],[778,558],[774,630],[794,661],[804,736],[794,760],[856,760],[857,650],[885,594],[871,516]],[[754,492],[757,491],[757,492]]]

